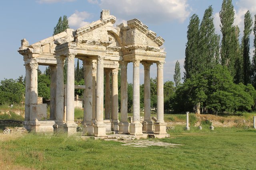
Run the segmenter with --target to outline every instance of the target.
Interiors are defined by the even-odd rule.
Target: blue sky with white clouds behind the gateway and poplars
[[[222,0],[4,0],[0,6],[0,80],[16,79],[25,75],[22,55],[17,50],[20,40],[26,38],[30,44],[50,37],[60,16],[66,15],[70,28],[77,29],[92,21],[99,20],[102,9],[109,9],[116,16],[114,25],[137,18],[148,29],[165,39],[163,45],[167,52],[164,65],[164,81],[173,80],[174,66],[178,60],[181,71],[186,47],[186,31],[189,18],[198,14],[202,19],[208,6],[214,8],[216,32],[220,34],[219,12]],[[236,12],[235,24],[243,33],[244,14],[250,10],[256,14],[256,0],[233,0]],[[253,17],[254,18],[254,17]],[[251,36],[251,44],[253,36]],[[254,47],[251,45],[251,53]],[[41,66],[42,71],[45,70]],[[128,64],[128,71],[132,64]],[[143,83],[143,66],[140,66],[140,83]],[[150,76],[156,77],[156,64],[151,66]],[[132,74],[128,75],[132,82]]]

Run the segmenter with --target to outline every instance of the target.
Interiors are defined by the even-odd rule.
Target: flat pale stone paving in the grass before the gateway
[[[159,146],[159,147],[171,148],[171,147],[182,146],[180,144],[166,143],[166,142],[161,142],[161,141],[150,141],[150,140],[119,141],[119,142],[124,143],[124,144],[122,144],[124,146],[130,146],[130,147]]]

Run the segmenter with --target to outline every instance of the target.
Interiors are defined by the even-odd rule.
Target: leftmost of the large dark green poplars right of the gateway
[[[199,40],[199,23],[200,20],[196,14],[190,17],[188,25],[185,61],[184,61],[184,79],[191,78],[200,72],[198,62],[198,40]]]

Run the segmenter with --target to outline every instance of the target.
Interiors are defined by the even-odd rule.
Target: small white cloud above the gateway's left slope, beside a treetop
[[[88,25],[89,22],[86,22],[84,20],[90,18],[91,14],[83,11],[83,12],[79,12],[79,11],[75,11],[74,14],[72,14],[70,17],[68,17],[68,24],[70,27],[77,29],[79,27],[83,27],[84,25]]]

